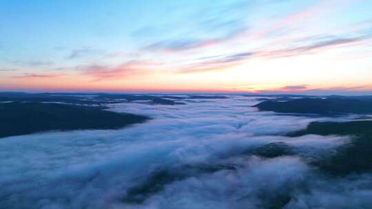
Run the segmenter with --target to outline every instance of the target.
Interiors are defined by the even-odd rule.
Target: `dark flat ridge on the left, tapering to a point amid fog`
[[[0,115],[0,137],[53,130],[118,129],[149,119],[99,107],[39,102],[0,103]]]

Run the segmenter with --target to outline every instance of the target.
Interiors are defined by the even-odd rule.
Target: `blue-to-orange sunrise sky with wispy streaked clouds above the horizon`
[[[0,91],[372,94],[372,1],[0,1]]]

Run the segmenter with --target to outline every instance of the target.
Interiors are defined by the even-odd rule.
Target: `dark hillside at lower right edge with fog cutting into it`
[[[332,175],[372,172],[372,120],[349,122],[311,122],[307,129],[289,133],[290,136],[307,134],[352,135],[351,142],[336,148],[335,152],[313,162]]]

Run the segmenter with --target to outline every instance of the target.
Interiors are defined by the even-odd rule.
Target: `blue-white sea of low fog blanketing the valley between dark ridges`
[[[112,104],[152,117],[124,129],[0,139],[0,208],[275,208],[288,198],[284,208],[372,206],[370,175],[330,177],[308,163],[350,137],[285,136],[350,117],[261,112],[257,98],[240,96],[183,102]],[[271,142],[298,155],[242,154]]]

